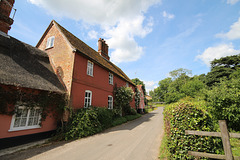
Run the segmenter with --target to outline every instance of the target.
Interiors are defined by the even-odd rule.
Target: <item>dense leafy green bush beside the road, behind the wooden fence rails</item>
[[[165,108],[165,130],[171,154],[169,159],[194,159],[188,155],[188,151],[223,152],[220,138],[185,134],[185,130],[215,131],[212,117],[205,108],[204,102],[187,101]]]

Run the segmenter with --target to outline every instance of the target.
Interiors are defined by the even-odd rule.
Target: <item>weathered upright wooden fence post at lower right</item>
[[[223,149],[226,156],[226,160],[233,160],[230,137],[227,130],[227,124],[225,120],[219,120],[219,126],[221,129],[222,141],[223,141]]]

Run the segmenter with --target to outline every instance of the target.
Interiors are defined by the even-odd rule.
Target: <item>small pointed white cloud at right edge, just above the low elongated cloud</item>
[[[230,27],[230,31],[227,33],[219,33],[216,37],[227,38],[229,40],[240,39],[240,18]]]

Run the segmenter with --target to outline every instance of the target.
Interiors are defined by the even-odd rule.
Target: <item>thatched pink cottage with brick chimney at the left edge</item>
[[[47,53],[7,35],[13,3],[0,1],[0,149],[50,136],[57,119],[50,112],[42,121],[40,98],[65,95]]]

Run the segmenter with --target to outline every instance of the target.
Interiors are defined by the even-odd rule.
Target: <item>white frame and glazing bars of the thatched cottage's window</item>
[[[13,116],[12,116],[12,121],[11,121],[11,126],[10,126],[10,129],[9,129],[9,131],[11,132],[11,131],[20,131],[20,130],[28,130],[28,129],[35,129],[35,128],[41,128],[41,126],[40,126],[40,123],[41,123],[41,109],[40,109],[40,107],[33,107],[33,108],[28,108],[28,107],[26,107],[26,106],[17,106],[17,109],[20,109],[20,110],[27,110],[27,116],[26,117],[22,117],[22,115],[20,116],[20,117],[17,117],[17,114],[15,113]],[[40,110],[40,112],[39,112],[39,115],[37,115],[37,116],[31,116],[30,115],[30,112],[31,112],[31,110],[32,109],[34,109],[34,110]],[[34,112],[35,113],[35,112]],[[24,126],[14,126],[15,125],[15,121],[16,121],[16,119],[17,118],[19,118],[20,119],[20,124],[21,124],[21,121],[23,120],[23,119],[25,119],[26,118],[26,122],[25,122],[25,125]],[[37,124],[36,125],[29,125],[28,123],[29,123],[29,119],[30,118],[37,118]]]

